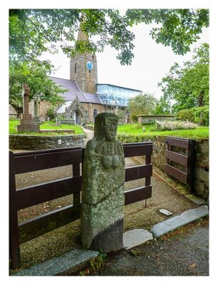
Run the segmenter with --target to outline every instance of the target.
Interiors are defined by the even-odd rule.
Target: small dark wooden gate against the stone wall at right
[[[165,172],[177,180],[190,185],[190,189],[192,190],[194,140],[167,137],[165,157]]]

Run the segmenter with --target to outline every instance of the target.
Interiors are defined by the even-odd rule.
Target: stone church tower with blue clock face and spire
[[[88,36],[79,30],[77,40],[87,41]],[[82,92],[96,93],[98,73],[95,53],[77,53],[71,58],[70,79],[76,81]]]

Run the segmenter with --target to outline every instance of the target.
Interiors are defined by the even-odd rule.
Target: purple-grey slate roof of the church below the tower
[[[61,88],[68,89],[68,91],[60,94],[64,98],[64,100],[72,101],[76,99],[76,97],[78,97],[78,100],[80,100],[80,102],[82,103],[101,104],[98,98],[98,95],[81,92],[76,81],[71,81],[71,80],[63,79],[63,78],[57,78],[53,76],[50,76],[50,78],[58,86],[61,86]]]

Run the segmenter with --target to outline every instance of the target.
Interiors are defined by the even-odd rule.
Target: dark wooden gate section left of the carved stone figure
[[[81,191],[80,162],[82,162],[81,147],[36,152],[9,152],[9,256],[13,269],[19,266],[19,244],[50,232],[57,226],[61,227],[66,224],[63,219],[63,223],[59,223],[60,225],[57,222],[51,222],[52,217],[56,217],[58,220],[66,209],[56,210],[48,213],[48,215],[35,217],[20,224],[18,223],[17,211],[66,195],[78,195],[78,192]],[[65,165],[73,166],[73,177],[16,190],[15,175]],[[79,207],[77,205],[80,202],[76,203],[75,200],[73,197],[71,213],[74,215],[71,217],[71,222],[78,219],[80,211],[80,205]]]

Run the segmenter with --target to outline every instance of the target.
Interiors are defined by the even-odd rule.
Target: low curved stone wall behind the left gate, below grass
[[[11,150],[48,150],[63,147],[83,147],[85,135],[9,135]]]

